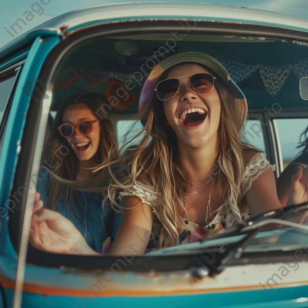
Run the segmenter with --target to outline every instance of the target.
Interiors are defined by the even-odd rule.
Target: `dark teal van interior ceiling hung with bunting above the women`
[[[168,39],[170,34],[159,33],[101,37],[75,47],[53,76],[51,114],[54,116],[64,100],[74,93],[102,93],[109,98],[110,107],[106,108],[119,138],[137,119],[141,87],[152,67],[165,57],[185,51],[206,53],[219,60],[245,93],[249,110],[264,111],[277,102],[284,107],[290,100],[294,107],[302,107],[305,102],[299,95],[299,73],[290,69],[290,65],[294,67],[307,58],[308,47],[304,44],[185,34],[176,46],[170,46],[166,44]],[[112,106],[114,98],[115,107]],[[142,126],[135,125],[137,133]]]

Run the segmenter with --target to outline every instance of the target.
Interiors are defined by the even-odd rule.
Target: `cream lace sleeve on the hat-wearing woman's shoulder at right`
[[[244,196],[251,187],[251,183],[270,167],[275,171],[276,165],[271,165],[262,152],[253,156],[244,170],[241,181],[241,195]]]

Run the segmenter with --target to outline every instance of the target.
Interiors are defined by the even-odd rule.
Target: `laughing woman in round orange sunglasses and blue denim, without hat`
[[[103,196],[91,191],[77,191],[64,180],[83,183],[90,178],[95,186],[106,186],[108,169],[93,173],[93,169],[110,160],[118,159],[116,139],[109,117],[95,113],[107,99],[99,94],[72,95],[58,111],[51,135],[42,155],[44,170],[50,170],[45,180],[39,180],[39,204],[56,210],[79,230],[87,244],[101,252],[103,241],[115,235],[121,215],[111,207],[102,209]],[[42,178],[43,179],[43,178]],[[86,187],[80,187],[86,188]],[[102,191],[102,189],[100,189]],[[56,212],[55,212],[56,213]]]

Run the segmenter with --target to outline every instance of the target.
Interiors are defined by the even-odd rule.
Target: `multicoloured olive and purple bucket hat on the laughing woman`
[[[222,82],[226,85],[226,87],[232,93],[234,99],[240,100],[239,103],[242,103],[243,106],[245,104],[247,105],[247,101],[246,101],[246,98],[243,92],[233,82],[228,72],[226,71],[225,67],[223,67],[221,63],[219,63],[217,60],[215,60],[211,56],[205,55],[200,52],[183,52],[183,53],[173,55],[171,57],[168,57],[160,61],[158,64],[155,65],[155,67],[152,68],[147,79],[145,80],[143,84],[143,87],[140,93],[140,99],[139,99],[139,114],[140,115],[141,115],[141,112],[144,111],[144,109],[150,103],[152,96],[156,95],[154,89],[156,87],[157,81],[160,78],[160,76],[170,67],[173,67],[177,64],[184,63],[184,62],[199,63],[199,64],[203,64],[209,67],[212,71],[214,71],[220,77]]]

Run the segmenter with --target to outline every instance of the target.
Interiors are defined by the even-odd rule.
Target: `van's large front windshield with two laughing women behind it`
[[[67,52],[36,206],[102,256],[226,252],[250,232],[249,252],[305,245],[306,211],[283,211],[308,202],[307,46],[185,29]]]

